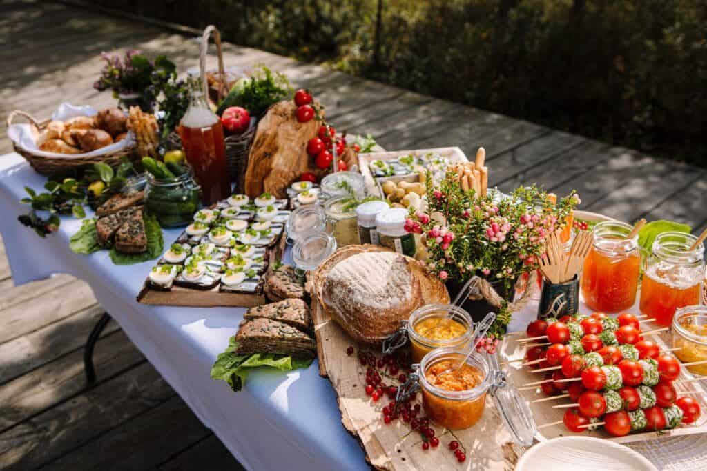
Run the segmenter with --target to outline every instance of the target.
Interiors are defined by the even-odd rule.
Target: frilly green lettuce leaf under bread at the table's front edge
[[[228,383],[234,391],[240,391],[245,383],[249,368],[270,366],[280,371],[291,371],[298,368],[307,368],[312,364],[312,359],[291,357],[272,353],[256,353],[251,355],[237,355],[235,337],[228,340],[226,352],[218,355],[214,366],[211,367],[211,378],[221,379]]]

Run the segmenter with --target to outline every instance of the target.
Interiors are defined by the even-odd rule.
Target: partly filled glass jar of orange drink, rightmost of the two
[[[655,237],[641,282],[641,313],[661,326],[670,326],[675,309],[700,304],[704,246],[690,246],[697,237],[663,232]]]

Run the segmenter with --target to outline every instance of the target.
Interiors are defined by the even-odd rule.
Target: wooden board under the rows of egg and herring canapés
[[[286,234],[283,230],[279,241],[267,249],[268,266],[263,273],[262,281],[255,293],[229,293],[218,290],[218,285],[211,290],[194,290],[183,286],[174,285],[169,291],[153,290],[147,280],[142,285],[137,295],[137,302],[159,306],[189,306],[189,307],[252,307],[267,304],[263,292],[264,280],[270,275],[276,262],[281,261],[285,249]]]

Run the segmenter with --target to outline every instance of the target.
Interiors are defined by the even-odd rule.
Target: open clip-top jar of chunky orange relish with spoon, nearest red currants
[[[422,406],[434,422],[450,430],[468,429],[479,422],[491,386],[489,364],[483,354],[443,348],[425,355],[419,368]]]

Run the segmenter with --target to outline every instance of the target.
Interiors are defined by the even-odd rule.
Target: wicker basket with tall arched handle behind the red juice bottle
[[[204,91],[209,90],[209,84],[206,81],[206,54],[209,49],[209,37],[211,33],[214,33],[214,43],[216,44],[216,55],[218,57],[218,73],[221,76],[221,81],[218,87],[218,102],[221,102],[223,98],[228,94],[226,90],[226,72],[223,67],[223,50],[221,49],[221,33],[218,32],[216,26],[209,25],[204,29],[204,34],[201,35],[201,44],[199,47],[199,73],[201,74],[201,81],[203,81],[202,87]],[[255,117],[250,119],[250,126],[247,131],[242,134],[228,136],[225,139],[226,143],[226,167],[228,169],[228,176],[230,181],[235,181],[236,193],[243,192],[243,180],[245,179],[245,169],[248,165],[248,152],[250,150],[250,145],[253,142],[253,137],[255,136],[257,120]],[[171,148],[181,148],[182,141],[178,133],[170,133],[168,138],[169,145]]]

